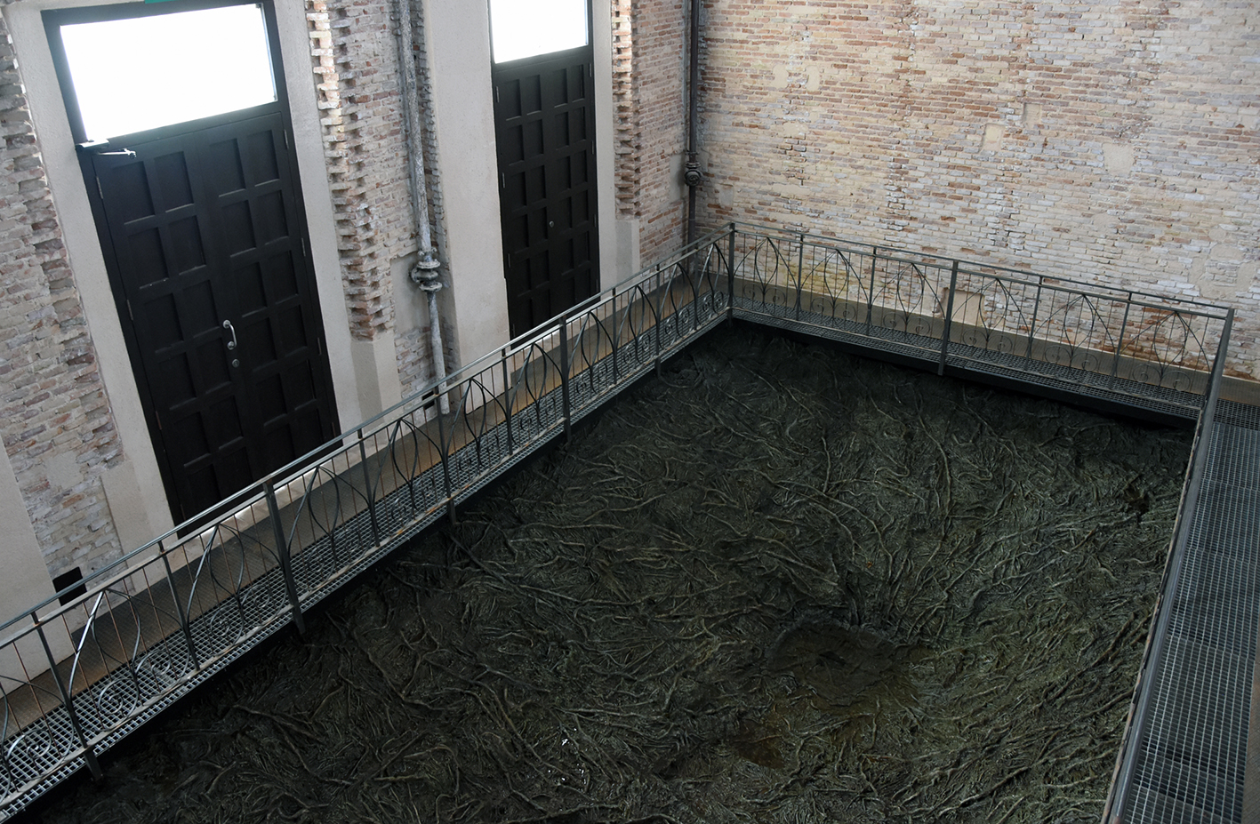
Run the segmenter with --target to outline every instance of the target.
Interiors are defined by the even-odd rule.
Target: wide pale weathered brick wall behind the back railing
[[[1260,377],[1250,4],[708,0],[706,38],[709,223],[1228,302]]]

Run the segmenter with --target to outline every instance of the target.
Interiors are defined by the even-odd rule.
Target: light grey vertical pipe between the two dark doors
[[[433,236],[428,226],[428,183],[425,179],[425,129],[420,122],[420,83],[416,81],[415,35],[411,29],[411,0],[397,0],[398,73],[402,81],[402,111],[407,134],[407,169],[411,176],[411,207],[420,238],[420,261],[411,270],[411,280],[425,292],[428,302],[428,345],[433,353],[433,377],[437,381],[438,408],[450,412],[446,399],[446,354],[442,346],[442,324],[437,311],[437,292],[442,289],[441,263],[433,256]]]

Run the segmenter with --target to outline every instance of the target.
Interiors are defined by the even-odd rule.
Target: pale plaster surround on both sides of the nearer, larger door
[[[57,210],[60,237],[72,268],[79,306],[87,321],[88,341],[96,352],[96,369],[105,386],[108,408],[101,415],[116,427],[121,450],[100,475],[108,498],[110,514],[123,551],[147,543],[173,525],[166,490],[158,467],[158,456],[137,389],[122,334],[122,321],[115,309],[113,290],[106,273],[105,257],[97,239],[96,223],[79,159],[74,151],[69,118],[57,82],[52,52],[40,13],[83,5],[112,5],[135,0],[23,0],[0,8],[9,28],[18,66],[26,88],[30,120],[39,139],[43,171]],[[324,157],[324,127],[320,123],[315,83],[310,74],[311,42],[309,21],[300,4],[275,6],[282,77],[276,78],[290,97],[290,125],[294,130],[295,159],[300,170],[301,194],[310,232],[310,253],[316,272],[320,311],[325,319],[325,339],[333,372],[334,403],[341,421],[360,421],[365,415],[359,397],[362,369],[354,357],[346,316],[340,255],[336,248],[336,219]],[[329,323],[330,321],[330,323]],[[98,486],[100,489],[100,486]]]

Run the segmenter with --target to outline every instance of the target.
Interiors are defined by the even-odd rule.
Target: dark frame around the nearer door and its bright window
[[[131,373],[134,379],[134,386],[136,388],[140,406],[144,412],[144,421],[149,433],[149,441],[152,449],[154,457],[158,464],[158,471],[161,478],[163,488],[165,491],[165,500],[170,509],[170,515],[173,523],[180,523],[188,518],[197,517],[197,513],[183,513],[180,508],[180,500],[178,495],[178,485],[175,483],[175,467],[170,461],[170,456],[166,449],[161,445],[165,441],[165,435],[160,426],[156,404],[154,402],[152,393],[150,391],[151,381],[147,377],[144,360],[140,352],[140,343],[136,335],[135,325],[130,321],[130,309],[126,300],[126,290],[121,282],[121,271],[118,267],[117,252],[113,246],[113,239],[110,236],[105,202],[102,199],[102,193],[97,185],[92,185],[96,179],[96,171],[92,164],[92,151],[84,150],[84,142],[87,135],[83,130],[82,116],[78,110],[78,101],[73,93],[73,84],[71,82],[69,67],[66,59],[64,50],[62,48],[60,38],[57,37],[57,30],[62,25],[74,24],[74,23],[96,23],[102,20],[116,20],[116,19],[134,19],[140,16],[152,16],[159,14],[178,14],[181,11],[197,11],[204,9],[226,8],[233,5],[260,5],[263,14],[263,24],[267,33],[267,45],[271,58],[272,77],[276,88],[276,101],[272,103],[265,103],[262,106],[255,106],[248,108],[242,108],[232,112],[226,112],[222,115],[214,115],[212,117],[205,117],[197,121],[173,123],[168,126],[160,126],[158,129],[146,130],[134,135],[122,135],[118,137],[112,137],[108,141],[111,149],[123,149],[129,139],[141,139],[142,141],[161,140],[166,137],[175,137],[189,131],[200,131],[205,129],[213,129],[215,126],[228,125],[238,121],[249,120],[265,113],[278,113],[285,127],[286,141],[289,142],[289,174],[292,175],[295,185],[292,188],[294,195],[294,209],[301,215],[301,227],[299,234],[299,241],[302,244],[305,255],[302,255],[302,266],[299,271],[299,277],[305,277],[311,287],[311,300],[310,310],[312,312],[312,320],[315,323],[315,334],[319,339],[319,345],[323,348],[324,359],[321,362],[323,372],[321,375],[329,392],[334,392],[331,374],[331,348],[328,341],[328,335],[325,333],[325,324],[323,319],[323,311],[320,306],[319,296],[319,283],[315,277],[315,267],[311,255],[311,241],[310,241],[310,228],[306,204],[302,197],[302,183],[301,175],[299,174],[297,164],[297,149],[296,140],[294,135],[292,116],[289,107],[289,94],[285,83],[285,67],[284,58],[280,48],[280,33],[276,20],[275,5],[270,0],[175,0],[174,3],[161,3],[161,4],[145,4],[139,6],[135,3],[127,4],[110,4],[110,5],[93,5],[83,8],[72,9],[55,9],[44,10],[42,13],[42,19],[44,23],[44,30],[47,35],[47,43],[49,45],[49,53],[53,60],[53,68],[57,73],[58,84],[60,87],[62,100],[66,108],[67,121],[71,127],[71,135],[74,140],[79,170],[82,174],[83,186],[87,193],[88,205],[92,213],[92,219],[94,223],[94,231],[97,241],[100,243],[101,255],[105,261],[106,275],[108,278],[110,291],[113,297],[113,307],[117,311],[118,324],[121,326],[122,336],[126,343],[127,358],[131,365]],[[334,402],[329,403],[329,412],[331,415],[330,432],[328,433],[328,440],[335,437],[340,433],[340,421],[338,417],[338,406]],[[325,441],[326,442],[326,441]],[[258,479],[255,479],[258,480]],[[248,486],[246,488],[248,489]],[[241,496],[236,495],[231,501],[238,500]],[[214,512],[219,512],[224,506],[219,505],[214,508]]]

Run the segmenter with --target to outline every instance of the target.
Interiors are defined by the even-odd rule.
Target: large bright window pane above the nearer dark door
[[[88,140],[276,100],[258,5],[60,26]]]

